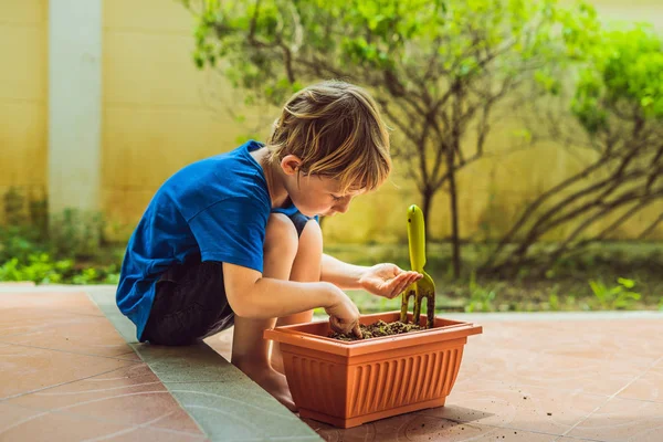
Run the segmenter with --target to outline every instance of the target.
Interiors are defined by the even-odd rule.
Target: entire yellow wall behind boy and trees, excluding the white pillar
[[[615,11],[624,8],[611,0],[602,4],[607,17],[619,17]],[[628,10],[625,18],[653,20],[663,29],[660,1],[635,1]],[[3,0],[0,12],[0,60],[12,60],[9,70],[0,72],[0,191],[10,185],[42,189],[48,4]],[[102,207],[109,233],[124,239],[168,176],[233,148],[238,137],[256,128],[266,135],[274,115],[251,114],[244,124],[229,116],[227,107],[234,108],[240,98],[218,75],[193,66],[193,21],[177,1],[104,0],[103,19]],[[490,149],[511,148],[515,127],[508,122],[498,127]],[[460,177],[463,236],[480,238],[485,221],[506,229],[525,200],[578,167],[577,159],[551,146],[469,167]],[[391,182],[360,197],[347,214],[327,221],[327,240],[404,239],[403,213],[412,202],[417,197],[397,164]],[[448,204],[442,193],[434,201],[431,231],[438,238],[449,235]],[[638,215],[619,236],[633,238],[661,211],[663,204]],[[656,238],[663,239],[663,227]]]

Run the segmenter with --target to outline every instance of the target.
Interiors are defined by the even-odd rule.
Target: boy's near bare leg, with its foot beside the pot
[[[297,231],[284,214],[273,213],[267,222],[264,243],[263,276],[287,281],[297,254]],[[291,410],[295,410],[285,376],[270,365],[270,341],[263,332],[273,328],[276,318],[234,317],[232,364]]]

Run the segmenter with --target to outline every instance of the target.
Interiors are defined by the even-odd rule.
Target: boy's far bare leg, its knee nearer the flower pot
[[[311,220],[304,227],[299,236],[297,254],[290,275],[291,281],[313,282],[320,280],[320,265],[323,259],[323,232],[315,220]],[[277,326],[292,325],[301,323],[311,323],[313,320],[313,311],[297,313],[295,315],[278,318]],[[272,367],[283,371],[283,356],[278,343],[272,347]]]

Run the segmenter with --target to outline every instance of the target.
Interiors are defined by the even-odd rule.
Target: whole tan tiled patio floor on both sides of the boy
[[[663,441],[663,315],[461,317],[484,333],[470,337],[446,407],[349,430],[306,423],[324,440],[348,442]],[[225,357],[231,341],[232,330],[208,339]],[[204,415],[181,396],[193,378],[152,364],[155,349],[127,344],[81,288],[3,287],[0,441],[313,440],[203,433]],[[198,380],[211,398],[241,381]]]

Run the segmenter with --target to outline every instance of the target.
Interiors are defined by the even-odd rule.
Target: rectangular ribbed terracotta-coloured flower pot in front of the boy
[[[360,320],[369,325],[379,319],[399,320],[400,312]],[[327,337],[328,322],[276,327],[264,337],[281,343],[299,415],[350,428],[444,406],[467,336],[481,333],[478,325],[435,317],[430,329],[349,343]]]

